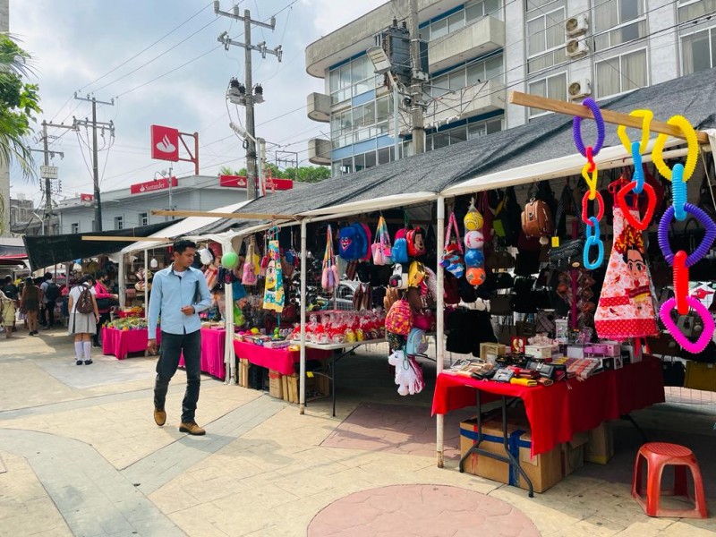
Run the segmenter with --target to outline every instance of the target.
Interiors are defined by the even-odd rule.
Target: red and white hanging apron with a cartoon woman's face
[[[639,217],[635,210],[632,214]],[[618,340],[652,336],[659,331],[642,232],[629,226],[617,204],[614,245],[594,314],[594,328],[601,339]]]

